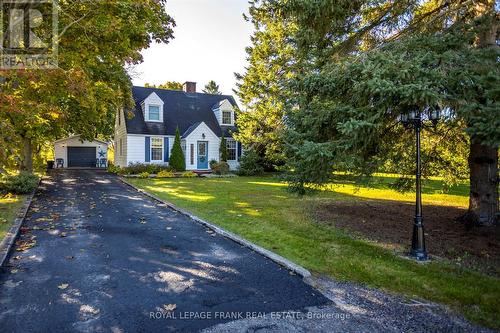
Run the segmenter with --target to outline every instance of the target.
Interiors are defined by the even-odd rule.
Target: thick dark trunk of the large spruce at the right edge
[[[467,222],[493,225],[498,222],[498,147],[471,142],[469,152],[470,194]]]

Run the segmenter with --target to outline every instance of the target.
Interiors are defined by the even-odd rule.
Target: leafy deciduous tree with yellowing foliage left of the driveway
[[[174,21],[164,6],[163,0],[59,2],[59,67],[0,73],[0,141],[7,152],[0,165],[31,170],[38,147],[63,135],[110,137],[116,110],[132,104],[125,65],[142,61],[140,50],[153,41],[172,38]]]

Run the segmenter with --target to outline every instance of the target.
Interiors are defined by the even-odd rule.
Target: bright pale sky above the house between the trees
[[[175,20],[175,38],[141,52],[144,62],[130,72],[133,84],[194,81],[201,92],[214,80],[223,94],[233,94],[253,31],[243,19],[247,0],[169,0],[166,11]]]

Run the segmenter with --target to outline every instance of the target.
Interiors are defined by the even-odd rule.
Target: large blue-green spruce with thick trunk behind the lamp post
[[[388,157],[401,156],[392,153],[396,147],[412,158],[411,137],[396,125],[397,115],[437,104],[445,107],[446,121],[431,133],[437,149],[428,157],[438,161],[443,147],[468,144],[468,215],[495,221],[500,117],[494,1],[272,3],[276,15],[298,26],[291,39],[303,72],[290,82],[295,94],[286,112],[297,188],[329,181],[335,169],[369,174]]]

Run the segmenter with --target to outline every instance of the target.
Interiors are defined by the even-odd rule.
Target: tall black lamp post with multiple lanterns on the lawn
[[[425,121],[430,120],[436,126],[440,117],[440,110],[436,107],[427,107],[424,112],[418,107],[401,114],[401,122],[405,128],[415,130],[416,159],[415,159],[415,217],[413,218],[413,236],[411,240],[410,256],[418,261],[428,260],[425,249],[424,224],[422,218],[422,181],[420,160],[420,132],[425,126]]]

